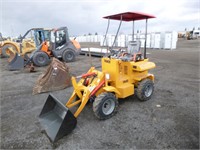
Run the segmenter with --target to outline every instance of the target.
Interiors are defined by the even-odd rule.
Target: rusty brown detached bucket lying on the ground
[[[33,94],[61,90],[71,85],[71,75],[64,62],[53,58],[45,73],[39,76],[33,88]]]

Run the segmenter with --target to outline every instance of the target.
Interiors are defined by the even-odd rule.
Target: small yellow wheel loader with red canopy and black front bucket
[[[147,19],[155,17],[144,13],[125,12],[104,18],[120,20],[121,26],[122,21],[146,19],[147,22]],[[117,34],[118,32],[119,29]],[[134,94],[141,101],[151,98],[154,75],[150,74],[149,70],[155,68],[155,64],[146,57],[146,42],[143,55],[140,42],[134,41],[133,35],[133,41],[127,51],[111,50],[109,56],[101,59],[101,65],[101,71],[92,67],[86,74],[71,78],[74,91],[65,105],[53,95],[48,96],[39,121],[52,142],[75,128],[76,118],[89,101],[93,103],[95,116],[104,120],[117,112],[118,99]],[[78,78],[80,80],[77,82]]]

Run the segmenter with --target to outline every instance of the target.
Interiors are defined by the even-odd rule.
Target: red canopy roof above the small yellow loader
[[[120,13],[120,14],[106,16],[103,18],[113,19],[113,20],[121,20],[121,16],[122,16],[122,21],[133,21],[133,20],[156,18],[153,15],[140,13],[140,12],[124,12],[124,13]]]

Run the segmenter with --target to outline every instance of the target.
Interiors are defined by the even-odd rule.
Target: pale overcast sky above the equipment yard
[[[67,26],[70,35],[104,34],[103,16],[127,11],[155,15],[149,19],[149,32],[184,31],[200,27],[200,0],[0,0],[0,32],[18,36],[33,27]],[[110,33],[119,22],[111,21]],[[137,21],[135,30],[144,30]],[[122,23],[120,33],[131,33],[132,23]]]

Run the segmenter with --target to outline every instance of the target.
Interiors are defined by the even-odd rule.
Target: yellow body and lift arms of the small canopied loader
[[[154,75],[148,73],[148,70],[155,68],[156,65],[148,59],[125,62],[120,59],[102,58],[101,64],[102,72],[92,67],[85,74],[86,77],[89,76],[87,85],[84,85],[84,75],[78,83],[75,77],[71,79],[74,91],[66,107],[72,108],[80,104],[74,113],[75,117],[78,117],[93,96],[102,92],[114,93],[116,98],[126,98],[134,94],[134,86],[137,87],[141,80],[148,78],[154,82]]]

